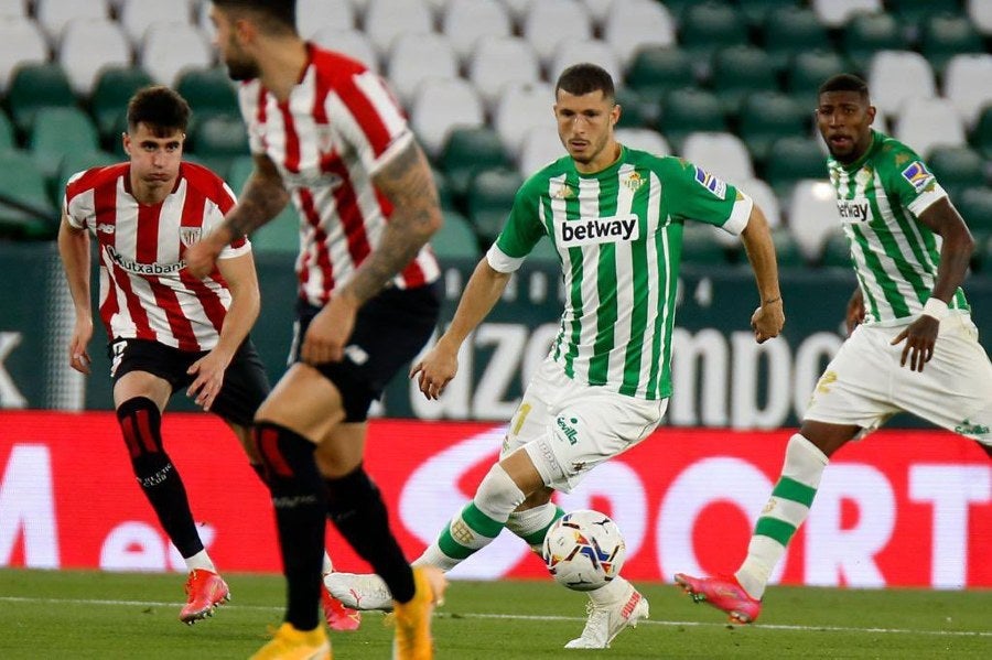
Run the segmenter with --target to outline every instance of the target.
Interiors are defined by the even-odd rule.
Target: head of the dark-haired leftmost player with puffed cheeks
[[[136,187],[172,188],[188,122],[190,105],[169,87],[152,85],[131,97],[123,149],[131,160],[131,183]]]

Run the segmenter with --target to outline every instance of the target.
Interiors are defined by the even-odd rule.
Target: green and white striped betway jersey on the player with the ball
[[[623,148],[616,163],[580,174],[565,156],[524,183],[487,259],[513,272],[547,236],[567,299],[553,359],[578,382],[664,399],[683,224],[737,235],[751,208],[750,197],[680,159]]]

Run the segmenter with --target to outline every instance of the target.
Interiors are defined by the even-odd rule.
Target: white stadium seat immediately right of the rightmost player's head
[[[937,95],[934,69],[923,55],[913,51],[880,51],[872,57],[866,82],[872,102],[889,120],[898,118],[909,99]]]

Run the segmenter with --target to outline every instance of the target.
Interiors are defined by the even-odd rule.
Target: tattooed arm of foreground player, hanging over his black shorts
[[[441,227],[438,190],[430,165],[416,142],[411,141],[386,163],[373,183],[392,204],[392,216],[376,249],[352,279],[334,291],[331,301],[310,324],[300,351],[305,363],[316,365],[342,359],[358,307],[410,263]]]

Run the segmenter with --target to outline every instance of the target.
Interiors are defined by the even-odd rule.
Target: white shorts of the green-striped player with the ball
[[[546,486],[570,493],[593,467],[650,435],[667,407],[668,399],[578,383],[549,358],[524,392],[500,458],[524,447]]]

